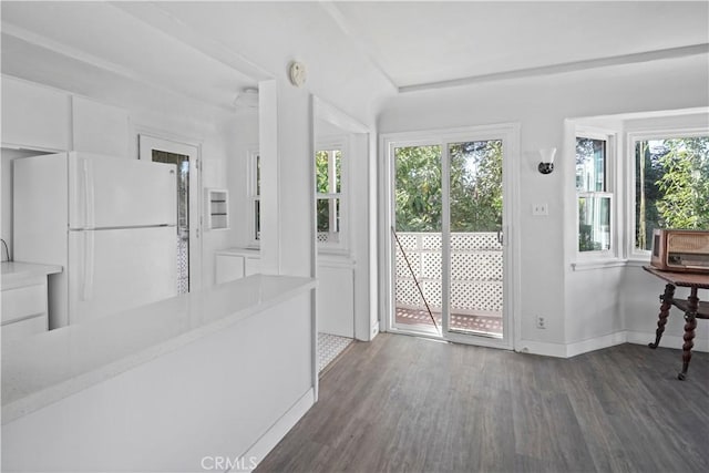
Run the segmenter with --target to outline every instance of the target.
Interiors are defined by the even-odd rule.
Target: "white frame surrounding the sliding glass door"
[[[449,143],[469,141],[502,140],[503,142],[503,338],[494,339],[474,335],[445,332],[442,336],[417,332],[417,336],[444,339],[454,342],[514,349],[520,333],[520,124],[502,123],[482,126],[456,128],[423,130],[417,132],[387,133],[380,137],[379,161],[379,248],[380,248],[380,313],[382,313],[382,331],[401,331],[393,323],[394,316],[394,268],[395,251],[392,246],[391,226],[394,222],[394,156],[393,148],[399,146],[441,145],[441,158],[448,155],[444,151]],[[443,169],[442,169],[443,172]],[[448,174],[448,173],[446,173]],[[442,175],[445,178],[445,175]],[[444,198],[448,202],[448,198]],[[444,258],[445,255],[442,255]],[[445,264],[443,268],[450,266]],[[445,279],[444,279],[445,280]],[[444,285],[443,290],[446,290]],[[448,299],[448,297],[445,297]]]

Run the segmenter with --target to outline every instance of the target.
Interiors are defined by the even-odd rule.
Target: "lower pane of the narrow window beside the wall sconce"
[[[610,197],[578,197],[578,250],[610,249]]]

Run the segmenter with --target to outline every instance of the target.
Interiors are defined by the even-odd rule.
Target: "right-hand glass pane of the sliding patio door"
[[[502,141],[449,144],[449,330],[502,338]]]

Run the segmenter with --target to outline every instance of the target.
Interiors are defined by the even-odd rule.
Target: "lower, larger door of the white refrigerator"
[[[175,227],[69,232],[69,323],[176,296]]]

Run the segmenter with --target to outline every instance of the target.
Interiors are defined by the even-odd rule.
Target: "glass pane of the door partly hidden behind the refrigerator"
[[[189,156],[153,150],[153,161],[177,166],[177,294],[189,291]]]

